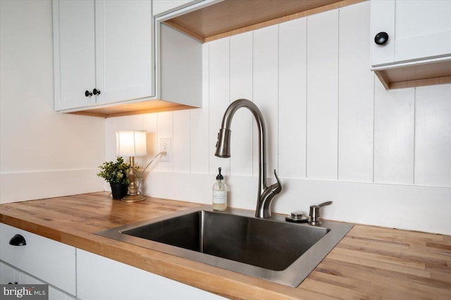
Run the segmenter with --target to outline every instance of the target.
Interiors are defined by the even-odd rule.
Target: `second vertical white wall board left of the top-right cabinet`
[[[338,11],[312,15],[307,19],[307,178],[338,176],[338,82]]]

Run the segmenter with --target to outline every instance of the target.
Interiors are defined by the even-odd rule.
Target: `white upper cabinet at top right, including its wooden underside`
[[[372,70],[397,68],[378,74],[387,82],[449,77],[450,11],[451,1],[371,1]]]

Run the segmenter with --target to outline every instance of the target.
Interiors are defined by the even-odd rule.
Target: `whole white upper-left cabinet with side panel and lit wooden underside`
[[[202,44],[163,30],[152,4],[53,1],[56,111],[111,117],[202,106]]]

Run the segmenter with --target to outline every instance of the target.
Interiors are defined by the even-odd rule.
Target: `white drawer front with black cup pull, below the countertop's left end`
[[[13,246],[11,238],[21,235],[26,244]],[[19,240],[20,237],[16,237]],[[75,248],[16,227],[0,223],[0,259],[75,295]]]

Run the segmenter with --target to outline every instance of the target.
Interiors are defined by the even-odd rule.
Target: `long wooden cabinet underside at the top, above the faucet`
[[[204,43],[362,1],[224,0],[163,23]]]

